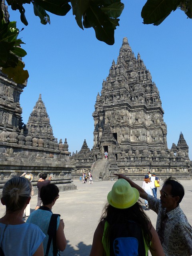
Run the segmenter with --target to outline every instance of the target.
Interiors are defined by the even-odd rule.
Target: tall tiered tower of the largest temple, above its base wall
[[[127,146],[133,150],[136,147],[142,150],[144,146],[150,150],[166,150],[163,114],[160,95],[149,70],[140,54],[135,58],[124,38],[117,63],[113,60],[109,75],[102,83],[101,96],[98,94],[96,99],[94,147],[100,144],[102,151],[107,150],[106,146],[113,151],[115,143],[106,145],[102,140],[109,125],[110,134],[124,150]]]

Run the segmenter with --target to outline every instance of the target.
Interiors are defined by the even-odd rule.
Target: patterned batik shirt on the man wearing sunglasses
[[[166,256],[192,255],[192,226],[180,206],[166,212],[159,199],[148,195],[151,210],[158,214],[156,231]]]

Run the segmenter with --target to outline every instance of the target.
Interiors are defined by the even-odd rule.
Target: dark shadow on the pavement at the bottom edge
[[[74,249],[70,245],[70,241],[67,241],[67,246],[64,252],[60,252],[61,256],[89,256],[91,251],[91,245],[86,245],[83,242],[79,242]]]

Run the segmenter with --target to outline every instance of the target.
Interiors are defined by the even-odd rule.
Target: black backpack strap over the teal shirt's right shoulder
[[[57,218],[60,216],[60,214],[52,214],[47,234],[49,235],[48,243],[47,243],[47,249],[45,256],[48,255],[49,249],[51,246],[51,241],[53,240],[53,255],[57,255],[57,244],[56,244],[56,232],[57,232]]]

